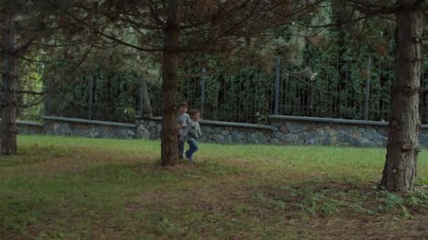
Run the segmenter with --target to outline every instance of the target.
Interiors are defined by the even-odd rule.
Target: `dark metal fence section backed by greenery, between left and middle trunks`
[[[46,102],[51,116],[133,123],[137,114],[136,78],[84,76],[52,89]]]

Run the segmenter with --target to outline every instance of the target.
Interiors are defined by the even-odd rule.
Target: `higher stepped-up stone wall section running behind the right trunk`
[[[270,116],[272,141],[289,145],[385,146],[388,124],[377,121]],[[421,126],[419,140],[428,147],[428,126]]]

